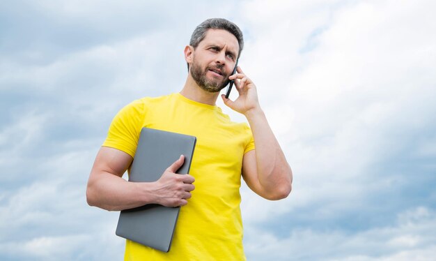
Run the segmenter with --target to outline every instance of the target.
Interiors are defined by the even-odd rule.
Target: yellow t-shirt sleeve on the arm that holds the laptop
[[[112,120],[102,146],[119,149],[134,157],[144,115],[145,108],[142,100],[135,100],[123,107]]]

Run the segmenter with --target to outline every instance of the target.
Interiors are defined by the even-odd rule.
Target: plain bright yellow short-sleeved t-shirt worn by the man
[[[127,240],[125,260],[245,260],[239,190],[242,158],[254,149],[249,126],[232,122],[217,106],[170,94],[120,110],[103,146],[134,157],[143,127],[197,137],[189,172],[195,190],[180,209],[169,253]]]

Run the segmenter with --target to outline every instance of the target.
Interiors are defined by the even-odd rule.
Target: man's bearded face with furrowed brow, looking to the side
[[[239,44],[226,30],[209,29],[192,54],[189,71],[201,89],[221,91],[228,84],[238,58]]]

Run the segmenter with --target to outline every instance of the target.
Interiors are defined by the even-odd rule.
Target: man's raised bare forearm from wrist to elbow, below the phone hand
[[[245,114],[249,121],[256,145],[256,166],[258,180],[269,193],[289,194],[292,171],[286,157],[260,108]]]

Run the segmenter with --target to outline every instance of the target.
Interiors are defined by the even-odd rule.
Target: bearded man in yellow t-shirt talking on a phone
[[[117,211],[150,203],[182,206],[169,253],[127,240],[126,260],[245,260],[241,175],[251,190],[269,200],[290,193],[292,172],[260,108],[256,86],[240,67],[231,75],[243,43],[232,22],[205,20],[185,47],[188,76],[182,91],[135,100],[112,121],[91,170],[88,204]],[[239,96],[221,98],[244,114],[251,128],[230,121],[215,105],[229,80],[235,80]],[[184,161],[180,156],[158,181],[121,178],[144,126],[197,137],[190,174],[175,174]]]

